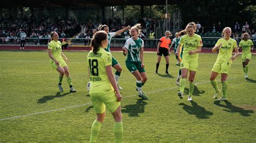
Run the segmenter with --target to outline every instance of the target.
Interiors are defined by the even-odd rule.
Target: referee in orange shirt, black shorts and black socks
[[[156,74],[158,71],[159,63],[161,61],[161,56],[164,55],[166,66],[165,66],[165,73],[169,74],[168,68],[169,68],[169,45],[171,44],[171,39],[169,36],[172,36],[170,31],[165,31],[165,37],[161,37],[159,39],[158,45],[157,45],[157,66],[156,66]]]

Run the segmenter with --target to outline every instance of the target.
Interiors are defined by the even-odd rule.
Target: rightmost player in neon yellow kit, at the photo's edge
[[[239,48],[242,49],[242,68],[245,72],[245,78],[248,77],[248,63],[252,58],[252,51],[253,51],[253,42],[252,40],[248,39],[249,34],[244,33],[242,34],[242,40],[239,43]]]

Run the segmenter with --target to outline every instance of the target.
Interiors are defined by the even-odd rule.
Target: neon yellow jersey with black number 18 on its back
[[[106,73],[106,66],[112,65],[112,55],[103,48],[97,54],[90,51],[87,55],[87,67],[90,70],[90,94],[114,91]]]

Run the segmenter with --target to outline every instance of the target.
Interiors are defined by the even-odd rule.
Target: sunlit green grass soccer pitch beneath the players
[[[76,93],[58,92],[58,73],[49,63],[48,52],[0,51],[0,142],[89,142],[96,119],[86,90],[87,52],[64,52]],[[170,56],[170,75],[161,59],[159,74],[156,53],[144,53],[147,82],[143,91],[149,100],[136,95],[136,78],[125,67],[125,56],[112,52],[123,67],[123,142],[256,142],[256,56],[244,78],[241,55],[228,76],[228,101],[215,102],[209,77],[217,54],[199,54],[197,86],[193,101],[177,96],[175,84],[179,66]],[[220,76],[217,77],[221,88]],[[112,115],[107,111],[98,141],[113,142]]]

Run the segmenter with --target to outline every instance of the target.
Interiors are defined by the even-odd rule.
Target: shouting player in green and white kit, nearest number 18
[[[123,54],[127,55],[125,65],[127,69],[136,77],[136,90],[138,91],[138,96],[142,99],[148,99],[148,97],[142,91],[142,87],[147,80],[146,71],[144,69],[143,63],[143,47],[144,41],[138,38],[139,33],[142,31],[140,24],[136,24],[131,27],[129,38],[123,47]]]

